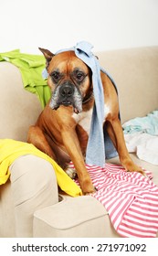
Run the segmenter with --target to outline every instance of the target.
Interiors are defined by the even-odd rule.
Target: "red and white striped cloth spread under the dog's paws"
[[[145,171],[148,177],[144,177],[137,172],[126,172],[121,165],[86,166],[98,189],[91,196],[107,209],[114,229],[122,237],[156,237],[158,187],[151,180],[152,173]]]

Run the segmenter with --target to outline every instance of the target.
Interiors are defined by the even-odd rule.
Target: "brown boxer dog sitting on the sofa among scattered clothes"
[[[93,193],[95,188],[84,162],[94,104],[90,68],[72,50],[54,55],[47,49],[39,49],[47,60],[47,84],[52,96],[37,123],[29,128],[27,142],[52,157],[66,171],[72,161],[83,194]],[[100,78],[105,101],[104,125],[121,165],[127,171],[143,175],[142,168],[132,162],[124,142],[117,92],[102,71]]]

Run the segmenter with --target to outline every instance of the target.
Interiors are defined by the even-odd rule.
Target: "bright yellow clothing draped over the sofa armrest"
[[[72,197],[82,195],[79,186],[48,155],[39,151],[33,144],[11,139],[0,139],[0,185],[5,184],[10,176],[9,166],[21,155],[37,155],[47,160],[55,170],[58,186]]]

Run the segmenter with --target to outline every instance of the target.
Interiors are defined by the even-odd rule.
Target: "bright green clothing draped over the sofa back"
[[[46,66],[46,59],[42,55],[21,53],[19,49],[0,53],[0,61],[8,61],[16,65],[21,71],[24,88],[37,94],[44,108],[50,99],[51,92],[47,86],[47,80],[42,77],[42,71]]]

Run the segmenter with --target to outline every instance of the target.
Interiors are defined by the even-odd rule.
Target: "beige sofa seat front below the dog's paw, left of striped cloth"
[[[34,237],[118,237],[108,212],[90,196],[63,197],[34,214]]]

